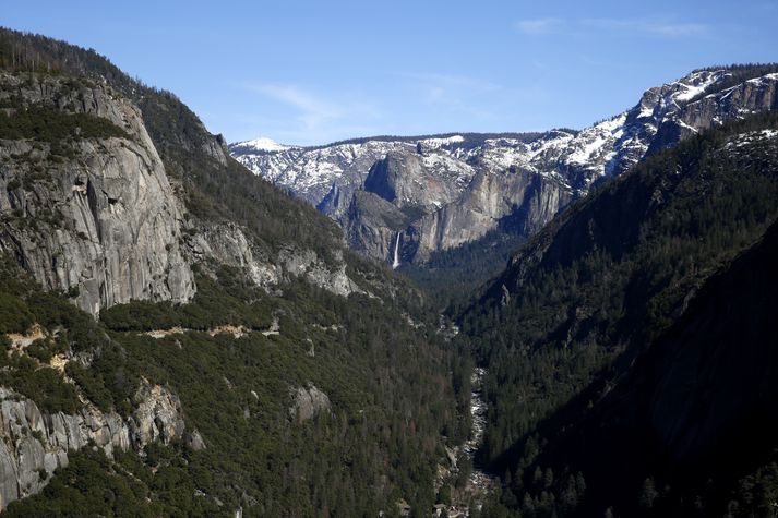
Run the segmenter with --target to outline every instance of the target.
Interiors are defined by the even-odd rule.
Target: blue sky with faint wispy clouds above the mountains
[[[583,128],[710,64],[778,61],[778,0],[0,0],[229,142]]]

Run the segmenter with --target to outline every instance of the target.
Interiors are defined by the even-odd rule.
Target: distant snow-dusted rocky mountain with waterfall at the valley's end
[[[775,108],[777,72],[698,70],[579,132],[375,137],[283,150],[248,142],[229,149],[339,221],[354,250],[388,264],[426,263],[490,231],[531,236],[598,181],[701,130]]]

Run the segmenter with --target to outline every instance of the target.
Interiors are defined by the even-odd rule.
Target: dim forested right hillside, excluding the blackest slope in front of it
[[[777,128],[778,116],[766,113],[707,131],[602,185],[529,240],[466,313],[463,340],[489,369],[483,455],[498,473],[510,474],[504,505],[575,513],[584,502],[572,498],[578,472],[583,485],[591,485],[590,477],[598,484],[588,494],[622,494],[608,484],[626,478],[587,475],[572,450],[554,456],[553,441],[598,411],[602,396],[677,325],[707,279],[776,219]],[[665,397],[683,398],[673,390]],[[653,412],[651,419],[665,418],[665,409]],[[689,422],[680,425],[691,430]],[[620,459],[607,443],[590,455]]]

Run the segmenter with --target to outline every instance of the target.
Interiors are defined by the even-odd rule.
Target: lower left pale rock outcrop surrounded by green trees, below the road
[[[34,401],[0,387],[0,509],[40,492],[53,471],[68,466],[68,454],[91,443],[111,456],[116,449],[143,449],[154,441],[183,438],[181,402],[158,385],[144,382],[137,409],[128,419],[87,405],[79,413],[43,413]],[[196,445],[205,447],[196,431]]]

